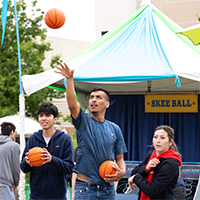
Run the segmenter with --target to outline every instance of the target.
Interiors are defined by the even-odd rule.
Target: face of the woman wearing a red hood
[[[165,130],[157,130],[153,136],[153,146],[156,149],[156,154],[168,151],[173,141],[169,141],[168,133]]]

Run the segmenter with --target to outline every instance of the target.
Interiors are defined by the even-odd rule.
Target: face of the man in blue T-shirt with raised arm
[[[106,110],[109,107],[107,95],[103,91],[95,91],[90,94],[89,108],[91,113]]]

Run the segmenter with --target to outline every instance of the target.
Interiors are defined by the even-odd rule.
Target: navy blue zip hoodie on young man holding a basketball
[[[46,148],[52,155],[50,163],[41,167],[31,167],[26,163],[25,154],[33,147]],[[30,136],[21,160],[21,170],[30,172],[31,198],[33,199],[66,199],[66,175],[72,173],[74,166],[72,140],[66,133],[56,130],[48,146],[42,130]]]

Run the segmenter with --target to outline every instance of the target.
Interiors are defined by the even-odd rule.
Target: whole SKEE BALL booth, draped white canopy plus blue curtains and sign
[[[142,5],[124,22],[65,62],[75,69],[75,90],[86,109],[93,87],[109,91],[111,105],[106,119],[121,127],[128,149],[124,155],[125,182],[135,164],[131,162],[145,158],[155,128],[169,125],[175,130],[175,142],[183,156],[182,176],[189,180],[187,185],[197,185],[200,47],[176,34],[179,30],[181,27],[156,7]],[[66,80],[54,69],[23,75],[22,82],[26,95],[44,87],[66,90]],[[188,187],[190,197],[195,187]]]

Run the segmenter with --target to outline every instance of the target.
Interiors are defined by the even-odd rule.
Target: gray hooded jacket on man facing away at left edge
[[[0,135],[0,183],[18,186],[20,173],[20,146],[9,136]]]

